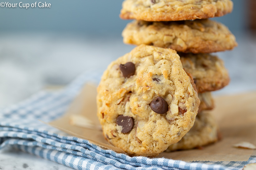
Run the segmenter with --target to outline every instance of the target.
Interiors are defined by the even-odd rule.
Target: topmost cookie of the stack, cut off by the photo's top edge
[[[121,19],[181,21],[223,16],[233,10],[231,0],[125,0]]]

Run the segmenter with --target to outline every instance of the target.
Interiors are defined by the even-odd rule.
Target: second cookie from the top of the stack
[[[213,53],[237,46],[229,29],[209,19],[194,21],[133,21],[122,32],[126,44],[147,44],[183,53]]]

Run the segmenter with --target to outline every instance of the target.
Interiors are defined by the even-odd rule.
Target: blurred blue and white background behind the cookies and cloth
[[[231,14],[214,18],[229,27],[239,44],[233,51],[218,53],[231,83],[215,94],[256,89],[256,40],[249,30],[256,17],[248,17],[256,9],[249,3],[256,0],[233,2]],[[121,0],[47,3],[50,8],[0,7],[0,108],[39,90],[63,87],[84,71],[104,71],[134,48],[122,43],[121,32],[130,21],[119,18]]]

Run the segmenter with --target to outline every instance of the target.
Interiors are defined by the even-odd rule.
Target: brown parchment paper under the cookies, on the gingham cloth
[[[234,148],[232,145],[241,141],[256,144],[256,92],[215,97],[215,105],[212,113],[219,123],[221,141],[203,149],[163,152],[157,157],[183,161],[247,161],[253,150]],[[72,125],[72,120],[83,118],[88,119],[90,126]],[[99,129],[100,124],[96,116],[96,85],[87,84],[67,113],[49,124],[95,145],[124,153],[122,149],[107,143]]]

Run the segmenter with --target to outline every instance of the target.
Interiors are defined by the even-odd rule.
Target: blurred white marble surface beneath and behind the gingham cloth
[[[81,72],[104,70],[133,46],[121,36],[0,34],[0,108],[21,101],[47,85],[66,85]],[[238,34],[239,47],[219,53],[231,82],[215,94],[256,90],[256,38]],[[25,168],[26,167],[26,168]],[[70,169],[41,158],[0,151],[0,169]]]

